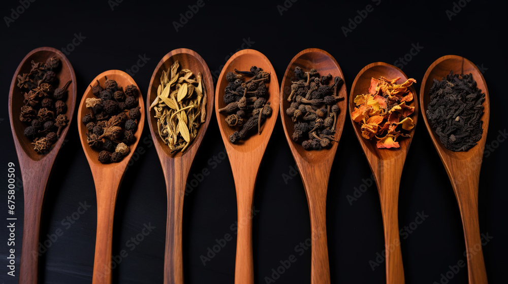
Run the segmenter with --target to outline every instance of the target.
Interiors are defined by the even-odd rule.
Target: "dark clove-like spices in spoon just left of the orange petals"
[[[302,141],[305,150],[319,150],[327,148],[335,141],[335,126],[340,112],[337,102],[338,91],[344,80],[332,75],[321,76],[316,69],[303,72],[302,68],[295,68],[296,80],[292,82],[288,101],[291,105],[286,114],[293,120],[294,132],[291,138],[295,142]]]

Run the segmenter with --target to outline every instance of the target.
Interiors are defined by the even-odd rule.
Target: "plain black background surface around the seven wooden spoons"
[[[344,73],[347,91],[359,70],[365,65],[384,61],[394,64],[411,50],[411,44],[423,47],[403,66],[408,77],[418,81],[420,90],[427,67],[437,58],[456,54],[483,68],[489,86],[491,116],[487,145],[497,147],[485,157],[480,176],[480,231],[492,236],[483,254],[491,283],[506,281],[507,201],[506,143],[498,139],[506,131],[506,2],[462,0],[465,7],[451,20],[446,10],[453,11],[459,1],[356,1],[353,3],[324,1],[285,1],[287,11],[279,12],[284,1],[268,3],[252,1],[206,1],[205,6],[187,23],[175,30],[172,22],[197,1],[157,3],[123,1],[113,9],[111,1],[45,1],[38,0],[2,31],[2,80],[4,107],[0,108],[2,154],[0,184],[0,216],[7,217],[7,169],[14,162],[18,176],[16,191],[16,278],[7,275],[7,238],[5,225],[0,231],[0,281],[17,283],[22,236],[22,183],[9,124],[7,97],[11,78],[21,59],[31,50],[50,46],[57,49],[72,43],[76,34],[85,37],[68,55],[74,66],[81,96],[99,73],[108,69],[125,70],[137,63],[138,56],[150,58],[139,67],[133,78],[146,98],[146,90],[158,61],[175,48],[198,52],[210,70],[218,75],[226,60],[250,41],[250,48],[264,53],[273,64],[278,80],[295,54],[315,47],[328,51]],[[366,19],[347,37],[341,26],[373,5]],[[2,1],[0,15],[20,6],[18,1]],[[457,8],[456,8],[457,11]],[[243,47],[246,47],[244,45]],[[409,56],[408,56],[409,57]],[[273,80],[273,77],[272,77]],[[76,106],[77,107],[77,106]],[[345,111],[345,110],[344,110]],[[77,112],[75,112],[76,115]],[[417,213],[428,215],[405,238],[401,236],[402,258],[407,283],[439,282],[441,273],[465,260],[462,223],[448,175],[434,150],[421,114],[416,127],[399,195],[399,227],[409,226]],[[74,117],[65,146],[60,150],[53,176],[46,191],[41,225],[41,242],[60,228],[63,235],[40,257],[40,282],[90,283],[96,236],[96,195],[92,175],[83,154]],[[162,283],[166,225],[166,189],[161,165],[149,139],[145,125],[135,155],[126,172],[117,200],[114,219],[113,254],[122,250],[128,256],[113,270],[116,283]],[[496,142],[497,140],[497,142]],[[214,156],[224,158],[223,141],[212,116],[194,165],[193,175],[204,168],[211,174],[193,187],[184,201],[183,265],[186,283],[233,283],[236,238],[227,242],[214,258],[203,265],[200,256],[225,234],[234,235],[236,196],[228,159],[213,164]],[[276,283],[309,283],[310,250],[303,255],[295,246],[310,237],[307,201],[299,175],[291,179],[295,161],[288,148],[279,121],[258,175],[253,219],[255,282],[265,283],[279,261],[295,255],[297,261]],[[371,174],[367,160],[353,133],[350,119],[344,130],[330,176],[327,197],[327,227],[331,281],[333,283],[384,283],[385,263],[374,267],[376,253],[384,250],[383,223],[375,185],[351,204],[347,195],[363,184]],[[284,175],[286,174],[286,175]],[[503,186],[504,184],[504,186]],[[193,185],[196,185],[193,182]],[[79,202],[91,205],[79,220],[66,229],[61,221],[71,216]],[[5,221],[2,221],[5,224]],[[141,232],[144,224],[155,229],[131,250],[126,243]],[[412,226],[414,226],[413,224]],[[414,228],[414,227],[413,227]],[[407,232],[407,231],[406,231]],[[128,246],[129,245],[129,246]],[[466,283],[467,269],[462,268],[449,283]]]

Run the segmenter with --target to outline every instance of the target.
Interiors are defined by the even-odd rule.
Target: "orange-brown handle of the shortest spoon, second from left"
[[[93,260],[93,284],[111,283],[113,217],[121,175],[117,178],[114,177],[114,172],[109,176],[106,172],[108,171],[103,171],[104,175],[97,178],[94,175],[97,192],[97,235]]]

